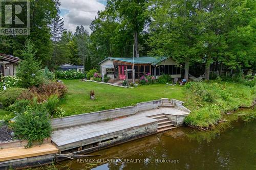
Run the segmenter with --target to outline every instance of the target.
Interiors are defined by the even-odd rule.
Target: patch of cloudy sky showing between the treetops
[[[84,26],[90,33],[91,21],[97,16],[98,11],[105,9],[97,0],[60,0],[60,3],[65,28],[72,32],[75,32],[77,26]]]

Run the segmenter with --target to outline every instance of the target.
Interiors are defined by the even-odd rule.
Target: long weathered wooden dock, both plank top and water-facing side
[[[121,140],[124,136],[127,138],[129,135],[134,137],[136,134],[156,133],[159,120],[149,116],[162,114],[186,116],[189,113],[174,107],[142,111],[129,117],[57,130],[52,133],[52,141],[59,151],[66,151],[93,143],[104,145],[104,142]]]

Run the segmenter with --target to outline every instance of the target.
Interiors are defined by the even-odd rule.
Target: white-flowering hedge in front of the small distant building
[[[55,71],[55,76],[58,79],[83,79],[84,74],[76,70],[67,70],[67,71]]]

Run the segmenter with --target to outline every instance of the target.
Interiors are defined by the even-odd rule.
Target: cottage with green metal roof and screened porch
[[[101,74],[106,74],[112,79],[126,79],[126,69],[135,70],[135,79],[140,79],[148,73],[156,78],[162,74],[172,75],[173,78],[181,78],[181,69],[178,64],[173,59],[166,57],[109,57],[98,64],[100,65]],[[132,71],[129,71],[127,76],[127,79],[132,79]]]

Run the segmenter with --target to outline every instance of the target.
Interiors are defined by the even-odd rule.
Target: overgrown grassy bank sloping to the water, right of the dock
[[[185,124],[194,127],[215,126],[225,113],[249,108],[256,99],[255,86],[228,82],[190,82],[185,91],[185,106],[191,110]]]

